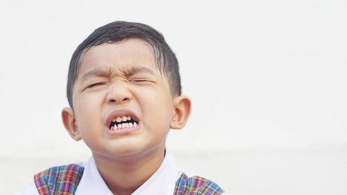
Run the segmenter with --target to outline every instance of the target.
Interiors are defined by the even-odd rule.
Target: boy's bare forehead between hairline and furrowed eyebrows
[[[139,39],[92,46],[81,58],[78,78],[95,68],[126,70],[142,66],[158,71],[152,46]]]

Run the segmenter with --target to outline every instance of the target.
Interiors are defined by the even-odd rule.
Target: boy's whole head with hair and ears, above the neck
[[[163,151],[169,128],[191,110],[180,95],[178,62],[164,37],[144,24],[96,29],[71,59],[62,121],[94,158]]]

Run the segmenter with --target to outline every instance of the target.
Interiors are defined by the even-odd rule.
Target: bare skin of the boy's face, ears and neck
[[[73,105],[62,110],[65,128],[91,149],[113,194],[131,194],[155,173],[169,129],[183,128],[191,111],[187,96],[171,94],[151,46],[138,39],[92,46],[85,53]],[[139,126],[111,135],[106,121],[122,110],[132,112]]]

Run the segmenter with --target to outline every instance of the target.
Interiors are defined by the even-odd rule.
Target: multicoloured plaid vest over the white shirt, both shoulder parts
[[[34,182],[40,195],[73,195],[83,175],[84,167],[68,164],[37,173]],[[223,189],[212,181],[182,173],[176,182],[174,195],[219,195]]]

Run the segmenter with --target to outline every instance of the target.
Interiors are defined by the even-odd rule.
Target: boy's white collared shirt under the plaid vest
[[[77,163],[85,167],[82,178],[76,189],[76,195],[86,194],[107,194],[113,195],[105,181],[101,177],[99,170],[96,167],[95,160],[91,157],[88,162]],[[180,178],[183,171],[178,169],[174,158],[168,151],[165,154],[164,160],[157,171],[146,180],[132,195],[163,195],[174,194],[176,181]],[[187,173],[185,173],[187,175]],[[194,174],[187,175],[188,177],[195,176]],[[39,195],[36,185],[32,182],[26,189],[16,195]],[[224,193],[223,195],[227,195]]]

